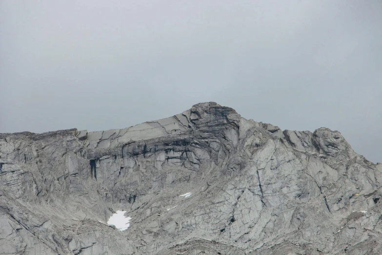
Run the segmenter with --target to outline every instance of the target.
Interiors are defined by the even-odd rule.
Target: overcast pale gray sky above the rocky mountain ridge
[[[214,101],[382,162],[381,0],[0,1],[0,132],[105,130]]]

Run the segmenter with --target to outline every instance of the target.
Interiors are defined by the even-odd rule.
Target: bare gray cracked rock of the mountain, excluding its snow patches
[[[377,255],[381,184],[338,131],[212,102],[125,129],[0,134],[0,254]],[[117,210],[126,231],[105,224]]]

